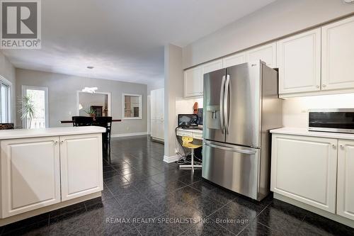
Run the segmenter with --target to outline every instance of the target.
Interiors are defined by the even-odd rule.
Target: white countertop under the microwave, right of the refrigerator
[[[283,135],[302,135],[302,136],[312,136],[312,137],[329,137],[329,138],[337,138],[342,140],[354,140],[354,134],[309,131],[307,130],[307,128],[279,128],[275,130],[270,130],[270,133],[278,133]]]

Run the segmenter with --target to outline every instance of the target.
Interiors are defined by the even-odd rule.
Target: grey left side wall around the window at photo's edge
[[[13,64],[8,61],[5,55],[0,52],[0,75],[11,82],[11,121],[16,125],[16,69]]]

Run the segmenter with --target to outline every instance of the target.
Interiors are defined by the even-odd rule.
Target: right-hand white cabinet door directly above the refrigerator
[[[246,52],[247,62],[262,60],[270,68],[277,67],[277,44],[270,43]]]

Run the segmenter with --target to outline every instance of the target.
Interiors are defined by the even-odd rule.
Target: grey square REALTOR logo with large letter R
[[[41,47],[40,0],[0,0],[1,48]]]

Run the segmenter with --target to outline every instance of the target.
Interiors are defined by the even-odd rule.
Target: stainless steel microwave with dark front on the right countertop
[[[309,110],[309,131],[354,133],[354,108]]]

